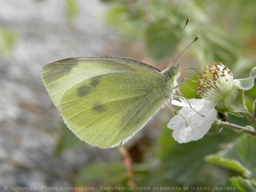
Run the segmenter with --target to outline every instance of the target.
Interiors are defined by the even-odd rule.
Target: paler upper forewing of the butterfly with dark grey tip
[[[58,107],[64,92],[81,81],[109,73],[160,71],[145,63],[116,57],[77,57],[63,59],[43,67],[43,83]]]

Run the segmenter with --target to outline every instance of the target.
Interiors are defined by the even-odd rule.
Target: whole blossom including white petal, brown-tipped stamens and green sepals
[[[222,127],[218,126],[215,129],[213,126],[209,131],[216,120],[216,109],[224,114],[232,113],[241,117],[240,113],[247,112],[244,90],[254,86],[255,78],[256,67],[251,70],[249,78],[233,80],[233,74],[221,62],[211,62],[196,84],[196,92],[203,99],[189,100],[199,114],[190,108],[186,100],[172,101],[172,104],[183,107],[168,123],[168,128],[173,130],[173,138],[179,143],[187,143],[199,140],[206,133],[213,135],[220,132]]]

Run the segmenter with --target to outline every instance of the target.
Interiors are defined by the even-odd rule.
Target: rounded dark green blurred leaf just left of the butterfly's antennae
[[[157,61],[163,61],[175,52],[178,43],[175,28],[169,19],[159,19],[151,23],[145,30],[145,48],[150,55]],[[180,29],[182,31],[182,29]]]

